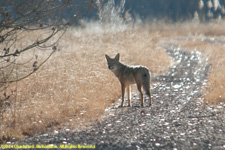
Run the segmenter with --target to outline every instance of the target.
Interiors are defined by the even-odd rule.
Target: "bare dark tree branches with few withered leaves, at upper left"
[[[37,71],[55,52],[68,26],[83,17],[91,7],[91,0],[0,0],[0,88]],[[32,31],[40,31],[42,35],[26,43],[26,33]],[[19,47],[19,42],[26,44]],[[37,62],[37,55],[32,56],[29,60],[33,61],[32,69],[15,77],[15,68],[27,62],[17,63],[16,60],[34,48],[51,48],[51,52],[42,62]]]

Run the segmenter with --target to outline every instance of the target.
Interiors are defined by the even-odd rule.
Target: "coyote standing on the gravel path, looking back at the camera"
[[[146,94],[149,97],[149,106],[152,104],[151,93],[150,93],[150,73],[146,67],[143,66],[127,66],[119,62],[120,54],[118,53],[116,57],[110,58],[105,55],[108,62],[108,68],[111,70],[121,83],[122,89],[122,103],[123,107],[125,88],[127,87],[128,92],[128,106],[130,106],[130,85],[137,84],[137,89],[141,94],[141,106],[144,106],[142,87],[144,88]]]

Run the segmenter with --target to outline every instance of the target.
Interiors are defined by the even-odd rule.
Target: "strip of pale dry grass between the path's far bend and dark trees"
[[[149,30],[157,30],[161,36],[178,38],[178,37],[218,37],[224,36],[225,21],[215,21],[208,23],[184,22],[184,23],[165,23],[156,21],[151,24]],[[147,25],[149,26],[149,25]]]

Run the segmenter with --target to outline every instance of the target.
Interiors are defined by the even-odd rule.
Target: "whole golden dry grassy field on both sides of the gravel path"
[[[121,31],[71,28],[61,39],[60,50],[40,70],[8,88],[7,92],[12,93],[11,106],[2,113],[0,139],[3,136],[21,139],[60,129],[82,130],[98,124],[105,109],[121,96],[119,82],[108,70],[105,54],[112,57],[119,52],[122,62],[147,66],[157,75],[172,64],[160,48],[164,42],[202,51],[212,66],[204,101],[224,102],[224,45],[201,41],[223,36],[225,31],[221,24],[225,23],[157,22]],[[36,34],[32,33],[33,37]],[[176,40],[180,37],[199,40]],[[45,55],[44,52],[39,54]],[[26,59],[29,55],[22,57]]]

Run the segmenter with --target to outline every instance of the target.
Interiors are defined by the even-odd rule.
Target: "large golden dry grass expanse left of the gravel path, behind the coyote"
[[[158,47],[160,40],[157,31],[143,28],[121,32],[71,29],[58,46],[61,50],[39,71],[8,88],[11,106],[2,114],[0,137],[20,139],[99,123],[105,108],[121,95],[105,54],[119,52],[122,62],[161,73],[171,62]]]

